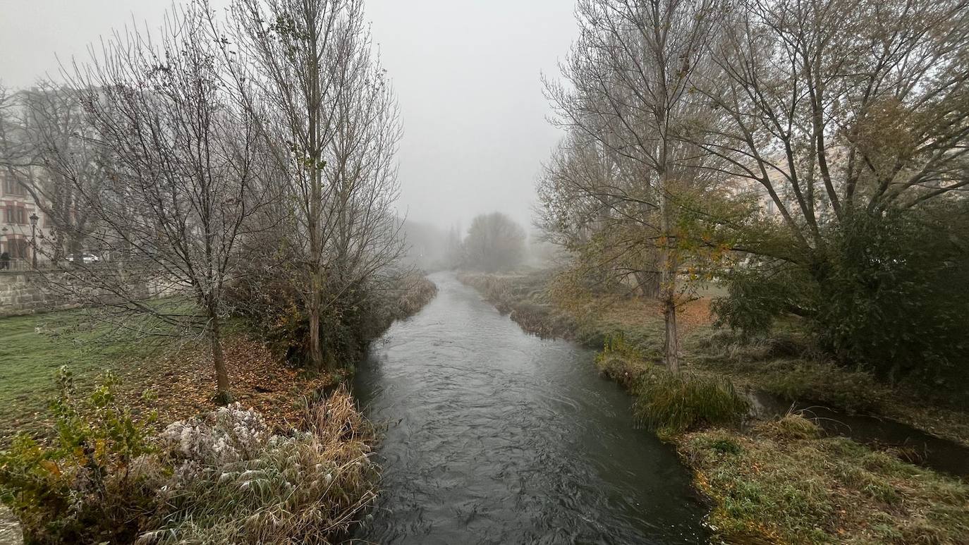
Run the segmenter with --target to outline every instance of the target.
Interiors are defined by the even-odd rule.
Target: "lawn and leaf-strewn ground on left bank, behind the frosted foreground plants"
[[[111,339],[109,330],[85,323],[75,312],[0,319],[0,448],[16,432],[45,434],[47,403],[57,369],[67,366],[78,387],[106,371],[120,379],[119,397],[133,409],[154,409],[159,422],[180,420],[215,408],[214,372],[207,347],[159,347],[145,340]],[[266,414],[272,427],[298,418],[299,398],[333,382],[300,373],[244,334],[230,331],[226,366],[233,395]],[[144,397],[144,392],[150,396]]]

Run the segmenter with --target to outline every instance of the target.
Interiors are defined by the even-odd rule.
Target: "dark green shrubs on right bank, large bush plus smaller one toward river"
[[[712,308],[746,337],[775,318],[806,319],[819,346],[880,378],[969,381],[969,210],[846,213],[824,245],[791,260],[753,258]]]

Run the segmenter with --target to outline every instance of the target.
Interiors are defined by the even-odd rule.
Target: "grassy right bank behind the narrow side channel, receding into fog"
[[[601,362],[601,369],[626,386],[661,360],[662,313],[652,302],[574,297],[562,306],[548,294],[552,279],[548,271],[462,273],[458,278],[481,291],[530,333],[569,339],[593,349],[603,348],[610,337],[622,336],[638,357],[613,354]],[[835,365],[812,347],[794,323],[781,324],[771,338],[742,343],[729,331],[712,326],[710,298],[704,295],[683,305],[678,313],[681,365],[688,372],[730,378],[739,390],[752,388],[790,401],[888,417],[969,446],[969,408],[965,406],[969,400],[906,383],[890,387],[869,373]]]

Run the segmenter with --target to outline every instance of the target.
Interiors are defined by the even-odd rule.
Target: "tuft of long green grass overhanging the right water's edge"
[[[653,368],[634,385],[634,412],[650,430],[676,435],[704,426],[738,423],[748,404],[727,378],[698,377]]]

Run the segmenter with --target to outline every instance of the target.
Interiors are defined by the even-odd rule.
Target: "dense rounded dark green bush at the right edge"
[[[813,321],[839,360],[891,379],[964,372],[969,240],[940,220],[856,212],[832,233]]]

